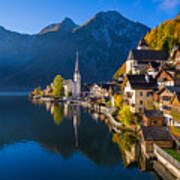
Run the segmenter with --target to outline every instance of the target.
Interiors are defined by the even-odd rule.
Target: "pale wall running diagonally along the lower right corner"
[[[158,153],[161,155],[163,158],[165,158],[168,162],[170,162],[173,166],[178,168],[180,170],[180,162],[178,162],[176,159],[174,159],[172,156],[170,156],[168,153],[163,151],[159,146],[156,144],[153,145],[154,148],[154,153]]]

